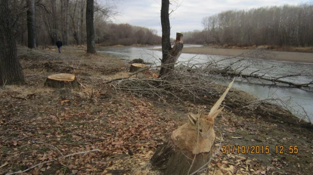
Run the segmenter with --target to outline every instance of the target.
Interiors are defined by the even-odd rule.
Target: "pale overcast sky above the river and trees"
[[[298,5],[306,2],[312,2],[312,0],[179,0],[180,7],[170,17],[171,37],[175,37],[176,32],[202,30],[201,20],[203,17],[222,11],[285,4]],[[128,23],[152,28],[158,30],[158,35],[162,35],[161,0],[121,0],[118,7],[121,15],[115,17],[114,23]]]

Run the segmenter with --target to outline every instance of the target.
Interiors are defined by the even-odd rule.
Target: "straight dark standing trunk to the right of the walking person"
[[[96,53],[94,30],[94,0],[87,0],[86,7],[87,53]]]

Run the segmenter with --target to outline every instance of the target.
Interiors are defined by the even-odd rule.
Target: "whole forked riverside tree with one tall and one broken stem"
[[[181,50],[183,48],[182,44],[182,34],[176,33],[176,41],[174,47],[171,47],[171,26],[170,26],[170,18],[169,18],[169,0],[162,0],[161,7],[161,24],[162,24],[162,60],[161,65],[165,65],[161,67],[159,78],[165,78],[174,71],[174,65],[181,54]],[[170,65],[169,65],[170,64]]]

